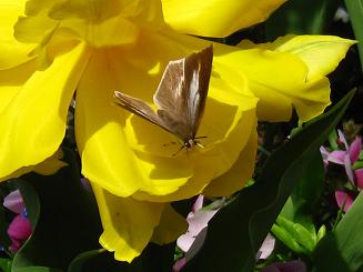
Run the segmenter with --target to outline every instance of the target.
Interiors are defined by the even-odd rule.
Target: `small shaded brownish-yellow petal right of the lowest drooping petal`
[[[167,205],[151,241],[158,244],[171,243],[185,233],[186,230],[186,220],[175,212],[171,205]]]

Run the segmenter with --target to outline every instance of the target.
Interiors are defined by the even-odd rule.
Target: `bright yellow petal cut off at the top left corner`
[[[10,69],[31,59],[34,44],[24,44],[13,37],[13,24],[23,13],[24,0],[0,2],[0,70]]]

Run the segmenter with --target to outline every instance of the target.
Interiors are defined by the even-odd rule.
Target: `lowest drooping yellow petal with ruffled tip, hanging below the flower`
[[[103,226],[101,245],[113,251],[115,260],[131,262],[151,240],[164,204],[119,198],[95,184],[92,188]]]

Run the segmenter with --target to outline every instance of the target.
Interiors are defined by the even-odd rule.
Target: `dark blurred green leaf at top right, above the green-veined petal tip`
[[[339,0],[290,0],[265,22],[269,40],[288,33],[322,34],[340,4]]]

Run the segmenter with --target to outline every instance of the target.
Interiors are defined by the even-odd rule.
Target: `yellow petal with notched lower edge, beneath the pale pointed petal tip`
[[[243,42],[240,47],[251,44]],[[307,81],[309,69],[299,56],[264,47],[245,49],[240,59],[230,60],[234,69],[246,74],[251,90],[260,99],[259,120],[288,121],[293,107],[302,121],[322,113],[330,104],[329,80],[320,75]]]

